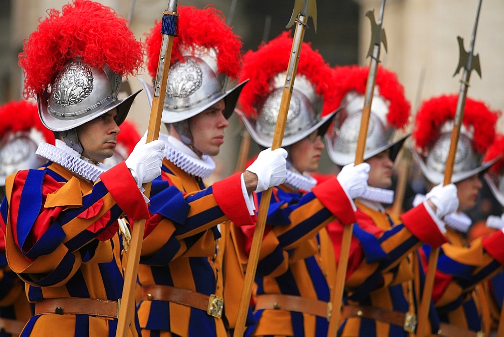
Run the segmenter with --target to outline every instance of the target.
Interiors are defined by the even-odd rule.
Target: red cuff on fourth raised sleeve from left
[[[437,224],[432,220],[423,203],[403,213],[401,219],[404,226],[415,237],[429,246],[437,248],[448,242],[443,233],[437,228]]]

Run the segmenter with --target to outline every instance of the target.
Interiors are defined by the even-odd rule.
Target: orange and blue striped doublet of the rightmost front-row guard
[[[482,287],[486,287],[484,281],[502,271],[504,234],[496,231],[467,243],[458,232],[448,228],[446,236],[449,242],[440,247],[432,291],[439,319],[480,331],[483,329],[482,319],[489,323],[489,313],[485,312],[487,298]],[[422,248],[426,270],[430,247]]]

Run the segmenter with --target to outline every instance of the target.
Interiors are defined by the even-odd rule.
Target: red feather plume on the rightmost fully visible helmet
[[[439,138],[443,124],[454,120],[457,100],[457,95],[442,95],[422,103],[412,135],[418,148],[427,151]],[[484,102],[466,97],[463,125],[472,131],[474,147],[479,153],[485,152],[493,143],[499,116],[500,111],[490,110]]]

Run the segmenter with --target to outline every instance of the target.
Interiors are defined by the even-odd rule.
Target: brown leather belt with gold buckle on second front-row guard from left
[[[191,290],[171,286],[142,286],[142,300],[166,301],[206,311],[215,318],[222,317],[224,300],[216,296],[196,293]]]

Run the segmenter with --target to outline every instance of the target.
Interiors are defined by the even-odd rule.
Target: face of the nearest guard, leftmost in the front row
[[[77,136],[81,142],[82,155],[95,161],[102,161],[114,154],[117,144],[117,109],[77,127]]]

